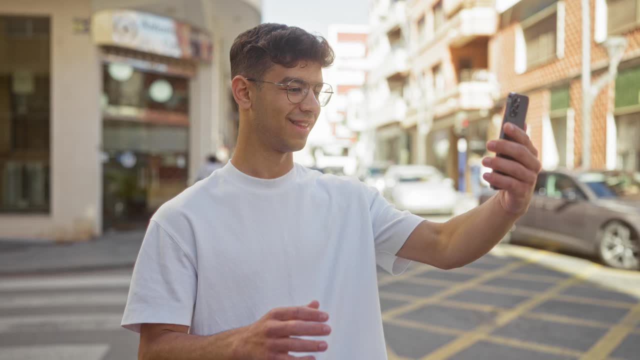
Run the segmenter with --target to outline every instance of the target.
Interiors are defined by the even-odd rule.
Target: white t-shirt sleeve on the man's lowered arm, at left
[[[142,323],[190,326],[196,284],[192,259],[151,220],[134,266],[122,327],[140,332]]]

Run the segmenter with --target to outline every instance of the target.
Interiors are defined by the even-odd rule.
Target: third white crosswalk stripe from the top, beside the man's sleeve
[[[122,313],[0,316],[0,333],[120,329]]]

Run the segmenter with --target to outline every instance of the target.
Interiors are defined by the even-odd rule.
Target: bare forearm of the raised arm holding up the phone
[[[489,252],[511,229],[517,215],[508,213],[493,196],[481,206],[445,222],[441,236],[447,243],[449,267],[472,263]]]

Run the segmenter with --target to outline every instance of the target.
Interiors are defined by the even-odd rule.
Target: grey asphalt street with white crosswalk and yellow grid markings
[[[130,270],[0,279],[0,360],[136,359]],[[636,359],[640,273],[499,245],[464,268],[379,271],[390,360]]]

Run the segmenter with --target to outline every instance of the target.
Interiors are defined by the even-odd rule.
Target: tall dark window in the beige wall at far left
[[[50,209],[50,28],[0,16],[0,212]]]

